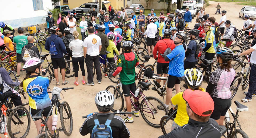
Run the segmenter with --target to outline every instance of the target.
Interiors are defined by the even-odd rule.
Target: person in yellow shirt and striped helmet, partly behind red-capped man
[[[203,82],[203,74],[198,69],[186,69],[185,70],[185,83],[190,90],[201,90],[205,92],[205,89],[199,88]],[[171,130],[175,127],[181,127],[188,123],[189,116],[187,115],[186,110],[186,101],[182,97],[183,91],[176,94],[171,98],[171,104],[178,105],[178,111],[176,118],[173,121]]]

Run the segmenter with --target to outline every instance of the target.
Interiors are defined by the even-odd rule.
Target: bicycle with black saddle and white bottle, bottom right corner
[[[249,138],[247,136],[247,134],[242,130],[240,122],[238,121],[238,113],[242,112],[242,111],[248,111],[249,108],[241,103],[239,103],[238,101],[234,101],[235,105],[237,106],[237,112],[236,114],[234,114],[233,110],[231,107],[229,107],[229,111],[227,111],[224,121],[225,121],[225,126],[227,128],[227,136],[223,135],[224,137],[228,137],[228,138],[234,138],[234,137],[239,137],[237,136],[238,134],[242,135],[241,137],[243,138]],[[229,117],[229,112],[231,113],[234,121],[233,123],[230,122],[230,117]],[[238,124],[238,126],[236,126],[236,124]],[[239,129],[237,129],[237,127],[239,127]]]

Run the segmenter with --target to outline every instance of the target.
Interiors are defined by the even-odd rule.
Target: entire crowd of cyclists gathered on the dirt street
[[[217,8],[219,10],[220,5],[217,5]],[[114,14],[110,18],[101,11],[100,15],[97,15],[96,18],[90,13],[86,14],[87,18],[82,16],[82,21],[79,25],[76,24],[77,21],[73,20],[73,14],[69,13],[66,17],[59,16],[58,24],[62,24],[60,25],[61,27],[55,26],[55,22],[51,16],[52,13],[48,12],[49,16],[46,18],[46,21],[51,36],[45,42],[45,49],[50,54],[51,52],[57,52],[56,54],[51,54],[56,86],[59,86],[58,68],[61,69],[62,85],[69,83],[69,81],[65,80],[66,63],[63,55],[67,55],[68,59],[72,58],[73,71],[75,72],[74,85],[79,85],[78,71],[80,66],[83,77],[82,84],[93,86],[93,63],[96,69],[97,81],[101,83],[102,71],[99,63],[106,64],[106,62],[99,58],[99,56],[104,59],[107,58],[109,62],[115,62],[113,55],[115,53],[118,55],[117,69],[113,73],[105,73],[104,76],[120,76],[127,111],[133,112],[135,117],[139,117],[137,110],[131,111],[130,101],[130,91],[133,94],[136,91],[135,68],[139,65],[139,58],[132,50],[135,39],[138,37],[137,32],[139,31],[143,33],[143,37],[146,37],[147,51],[152,53],[150,56],[157,61],[157,70],[155,71],[159,76],[163,74],[163,77],[168,78],[165,101],[166,108],[170,110],[176,105],[178,106],[177,115],[171,128],[172,131],[167,135],[159,137],[221,137],[222,134],[220,133],[219,125],[223,126],[225,114],[231,106],[230,85],[235,77],[235,70],[231,65],[231,61],[234,57],[251,53],[250,62],[256,64],[254,57],[256,46],[251,45],[249,50],[234,55],[234,52],[229,47],[235,40],[234,34],[236,28],[230,20],[227,20],[227,11],[225,10],[221,11],[222,18],[217,23],[213,16],[209,17],[209,14],[206,14],[201,9],[198,12],[195,28],[188,30],[188,34],[185,34],[185,28],[189,28],[189,24],[191,23],[188,15],[191,14],[188,12],[189,7],[186,7],[186,10],[183,15],[177,9],[175,13],[167,13],[167,17],[164,11],[161,11],[160,16],[157,17],[154,9],[151,9],[151,13],[147,15],[147,18],[143,14],[143,10],[139,11],[140,14],[138,16],[133,11],[131,15],[127,16],[125,9],[122,11],[114,10]],[[128,18],[125,19],[125,16]],[[99,24],[96,23],[96,19],[99,19]],[[125,30],[123,30],[123,26],[126,27]],[[4,41],[4,43],[1,43],[0,40],[0,45],[2,44],[1,46],[6,47],[6,51],[14,51],[15,44],[17,47],[17,61],[19,60],[18,56],[20,56],[19,58],[23,58],[21,55],[18,55],[21,54],[21,52],[18,53],[18,48],[26,47],[29,37],[23,38],[22,41],[16,40],[12,42],[10,38],[14,36],[15,30],[4,22],[0,22],[0,27],[0,39]],[[76,31],[76,27],[81,28],[82,40],[78,39],[79,32]],[[226,41],[225,46],[218,48],[218,43],[216,43],[217,28],[221,32],[221,37],[218,40]],[[18,29],[19,33],[20,30]],[[253,37],[256,38],[256,28],[252,25],[249,15],[245,15],[243,31],[247,35],[252,33]],[[4,37],[2,37],[2,33]],[[218,68],[210,74],[210,80],[205,89],[201,87],[203,82],[201,70],[194,68],[200,62],[198,61],[197,51],[201,43],[204,43],[201,49],[204,59],[212,62],[213,58],[216,57],[218,65]],[[55,51],[52,51],[52,47],[55,47]],[[110,53],[106,54],[106,51]],[[84,62],[86,63],[88,73],[87,82]],[[12,96],[17,91],[10,87],[20,85],[29,95],[30,115],[33,116],[41,109],[44,109],[43,116],[46,118],[49,112],[51,112],[51,99],[47,93],[47,91],[51,90],[48,88],[49,79],[42,77],[45,75],[45,69],[42,68],[42,63],[43,60],[38,57],[31,57],[27,60],[23,66],[23,69],[26,70],[26,77],[21,82],[13,82],[6,70],[0,68],[1,100],[11,96],[15,106],[21,105],[20,97]],[[20,70],[21,65],[19,65],[19,68],[18,65],[17,69]],[[250,102],[252,96],[255,97],[256,95],[256,81],[254,81],[256,79],[255,68],[255,66],[251,68],[249,90],[245,93],[246,97],[242,99],[242,102]],[[208,65],[207,70],[211,72],[212,66]],[[20,78],[20,75],[17,74],[17,77]],[[180,89],[180,83],[183,80],[187,86],[187,90],[185,91],[181,91]],[[161,80],[157,80],[157,82],[160,83]],[[165,84],[165,82],[163,83]],[[172,94],[174,88],[175,96]],[[153,87],[152,90],[156,89]],[[96,124],[95,118],[98,118],[100,124],[104,124],[109,119],[112,120],[109,126],[112,128],[111,135],[113,138],[130,137],[130,131],[125,123],[133,123],[133,115],[129,114],[124,119],[120,116],[113,116],[110,113],[110,109],[113,108],[114,100],[113,94],[109,91],[100,91],[97,93],[95,104],[98,112],[91,113],[87,116],[87,119],[80,128],[81,135],[92,134]],[[134,102],[136,102],[135,98]],[[164,110],[161,106],[157,108]],[[18,114],[20,118],[26,115],[23,112],[18,112]],[[41,120],[33,120],[37,132],[39,132]],[[52,117],[50,116],[47,126],[50,127],[51,123]],[[95,135],[92,137],[95,137]]]

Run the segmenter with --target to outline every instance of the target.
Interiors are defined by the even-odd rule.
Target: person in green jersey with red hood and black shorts
[[[139,65],[139,58],[136,54],[131,52],[133,49],[133,43],[131,41],[125,41],[123,43],[123,50],[125,53],[120,55],[117,61],[117,70],[109,76],[116,76],[120,72],[120,81],[122,83],[123,93],[125,95],[125,103],[128,112],[131,112],[130,90],[134,94],[136,90],[135,83],[135,67]],[[136,102],[136,99],[134,99]],[[136,117],[139,117],[138,111],[133,111]],[[126,123],[133,123],[133,118],[128,115],[123,119]]]

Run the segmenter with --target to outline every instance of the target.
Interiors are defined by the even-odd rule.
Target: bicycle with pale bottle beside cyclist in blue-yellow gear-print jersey
[[[74,87],[62,88],[62,90],[64,90],[64,91],[70,90],[70,89],[74,89]],[[48,92],[48,93],[51,93],[51,92]],[[72,117],[72,112],[71,112],[69,104],[65,100],[62,103],[60,103],[56,94],[52,95],[51,101],[52,101],[51,110],[48,113],[45,120],[43,120],[43,116],[42,116],[44,109],[41,109],[39,112],[37,112],[37,114],[35,114],[34,116],[31,117],[32,119],[37,118],[37,119],[42,120],[42,122],[41,122],[42,129],[41,129],[41,131],[39,131],[38,136],[36,138],[47,138],[47,137],[49,137],[47,133],[49,133],[51,138],[59,138],[59,131],[64,132],[65,135],[67,135],[67,136],[70,136],[73,131],[73,117]],[[53,112],[54,106],[55,106],[55,111]],[[64,111],[63,111],[63,109],[64,109]],[[53,134],[51,134],[49,128],[47,127],[47,122],[48,122],[49,116],[52,115],[51,112],[53,112],[54,115],[58,115],[58,112],[59,112],[60,120],[61,120],[61,127],[57,128]],[[67,124],[65,124],[65,123],[67,123]],[[57,126],[55,126],[55,127],[57,127]],[[44,128],[45,128],[45,130],[43,130]],[[42,132],[45,132],[45,133],[42,133]]]

